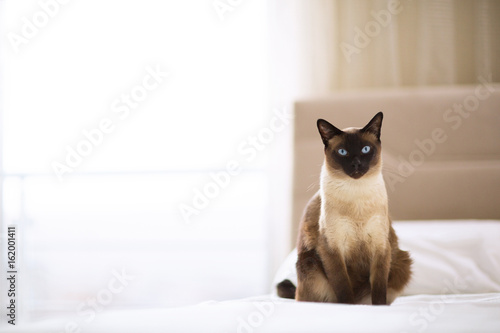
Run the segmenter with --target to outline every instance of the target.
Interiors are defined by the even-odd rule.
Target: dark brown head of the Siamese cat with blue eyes
[[[380,130],[382,112],[363,128],[340,130],[328,121],[318,119],[317,125],[325,145],[326,167],[338,176],[359,179],[381,170]]]

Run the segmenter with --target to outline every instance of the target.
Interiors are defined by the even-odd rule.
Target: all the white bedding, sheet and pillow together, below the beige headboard
[[[404,296],[390,306],[296,302],[274,293],[197,305],[60,316],[12,332],[500,332],[500,221],[395,222],[414,259]],[[294,279],[295,252],[273,285]],[[274,289],[274,288],[273,288]],[[3,327],[5,329],[5,326]]]

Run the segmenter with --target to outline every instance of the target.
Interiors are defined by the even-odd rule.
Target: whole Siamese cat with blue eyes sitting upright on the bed
[[[363,128],[340,130],[323,119],[320,190],[307,204],[297,242],[297,287],[278,295],[298,301],[391,304],[411,276],[398,246],[382,177],[382,112]]]

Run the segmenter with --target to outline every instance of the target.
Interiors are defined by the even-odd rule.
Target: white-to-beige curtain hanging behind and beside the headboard
[[[344,90],[500,81],[500,1],[272,0],[269,20],[273,106]],[[290,235],[287,130],[272,155],[274,239]],[[277,242],[276,258],[292,242]]]

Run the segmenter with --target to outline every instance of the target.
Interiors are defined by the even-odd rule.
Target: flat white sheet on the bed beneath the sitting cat
[[[12,332],[64,332],[70,320],[38,322]],[[180,308],[103,312],[79,328],[86,333],[498,333],[500,293],[405,296],[391,306],[305,303],[269,295]]]

